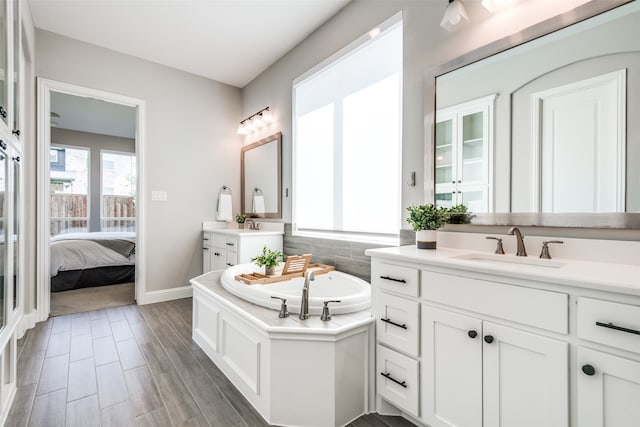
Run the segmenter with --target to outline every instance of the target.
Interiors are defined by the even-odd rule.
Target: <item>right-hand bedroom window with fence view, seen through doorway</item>
[[[102,231],[136,230],[136,156],[102,151]]]

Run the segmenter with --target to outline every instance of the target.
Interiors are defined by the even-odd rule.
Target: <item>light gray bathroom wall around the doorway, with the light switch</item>
[[[146,101],[147,291],[187,285],[223,185],[240,208],[240,90],[41,30],[36,55],[38,77]],[[168,201],[151,201],[153,190]]]

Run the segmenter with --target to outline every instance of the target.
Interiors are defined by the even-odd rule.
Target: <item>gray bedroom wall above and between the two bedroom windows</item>
[[[133,113],[133,111],[132,111]],[[52,145],[73,145],[89,148],[89,231],[100,231],[101,164],[100,150],[135,153],[136,141],[118,136],[98,135],[77,130],[51,128]]]

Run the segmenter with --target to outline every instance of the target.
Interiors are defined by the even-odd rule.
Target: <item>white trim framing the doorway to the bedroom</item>
[[[51,310],[50,285],[50,202],[49,202],[49,149],[51,147],[51,92],[84,98],[96,98],[114,104],[126,105],[136,109],[136,166],[138,168],[136,185],[136,282],[135,297],[138,304],[145,303],[146,296],[146,102],[130,96],[114,94],[98,89],[87,88],[55,80],[37,78],[37,236],[36,236],[36,309],[38,321],[49,317]]]

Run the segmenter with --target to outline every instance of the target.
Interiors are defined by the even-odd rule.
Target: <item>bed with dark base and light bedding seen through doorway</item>
[[[68,233],[51,238],[51,291],[135,281],[135,233]]]

